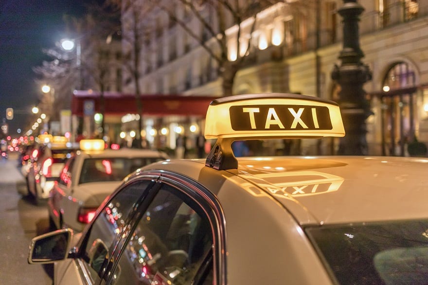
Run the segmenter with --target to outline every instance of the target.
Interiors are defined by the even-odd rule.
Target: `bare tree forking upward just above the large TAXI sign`
[[[236,73],[249,60],[252,36],[257,24],[257,15],[264,8],[278,2],[275,0],[173,0],[192,17],[178,17],[176,6],[170,1],[150,0],[169,18],[195,39],[201,47],[216,61],[218,73],[222,78],[223,95],[232,95]],[[214,16],[214,17],[212,17]],[[192,22],[199,22],[202,33],[197,33]],[[250,23],[250,29],[244,28],[243,22]],[[236,28],[233,36],[227,35],[227,30]],[[242,46],[244,45],[244,46]],[[235,52],[230,49],[234,47]],[[244,52],[241,52],[244,51]],[[232,58],[231,58],[231,54]]]

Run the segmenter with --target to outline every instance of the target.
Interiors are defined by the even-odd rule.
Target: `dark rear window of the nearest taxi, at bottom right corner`
[[[339,284],[426,284],[428,220],[305,229]]]

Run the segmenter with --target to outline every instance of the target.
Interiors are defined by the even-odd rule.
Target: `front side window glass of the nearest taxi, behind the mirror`
[[[149,184],[149,180],[144,180],[128,185],[111,198],[91,225],[83,260],[93,282],[101,280],[111,253],[125,232],[126,220],[133,214]]]

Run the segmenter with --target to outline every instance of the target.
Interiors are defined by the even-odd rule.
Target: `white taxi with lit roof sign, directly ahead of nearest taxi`
[[[101,150],[93,149],[97,143]],[[49,195],[49,220],[54,229],[82,231],[125,176],[144,165],[168,159],[156,150],[104,149],[102,140],[82,140],[80,145],[81,150],[67,160]]]

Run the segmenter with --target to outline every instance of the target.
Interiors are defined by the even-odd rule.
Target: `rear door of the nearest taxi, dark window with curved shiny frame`
[[[174,174],[162,173],[158,184],[119,244],[108,284],[220,284],[226,251],[215,197]]]

